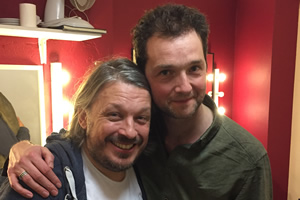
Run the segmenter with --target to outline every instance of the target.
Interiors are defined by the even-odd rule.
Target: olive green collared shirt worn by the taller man
[[[138,160],[148,199],[271,200],[271,169],[263,145],[219,115],[210,97],[204,104],[214,112],[214,120],[197,142],[168,154],[160,133],[154,137],[154,152]]]

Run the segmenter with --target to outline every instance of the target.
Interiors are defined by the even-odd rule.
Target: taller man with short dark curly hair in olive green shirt
[[[205,94],[208,33],[203,14],[175,4],[146,12],[133,29],[137,64],[160,110],[149,140],[156,146],[137,161],[147,197],[271,200],[263,145]]]

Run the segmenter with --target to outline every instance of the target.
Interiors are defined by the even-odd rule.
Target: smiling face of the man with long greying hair
[[[147,144],[150,118],[147,90],[123,82],[106,85],[79,114],[86,130],[83,148],[95,167],[118,172],[132,166]]]

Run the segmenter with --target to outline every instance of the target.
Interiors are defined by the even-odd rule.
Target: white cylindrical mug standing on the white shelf
[[[20,3],[20,25],[36,27],[36,6],[31,3]]]

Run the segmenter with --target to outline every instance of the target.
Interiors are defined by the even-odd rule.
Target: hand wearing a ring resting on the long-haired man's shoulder
[[[58,190],[55,185],[61,187],[61,183],[52,171],[53,162],[54,156],[47,148],[19,142],[10,151],[7,174],[11,187],[24,197],[32,195],[22,187],[18,179],[22,172],[27,171],[28,174],[22,177],[22,181],[28,187],[44,198],[48,197],[49,193],[56,196]]]

